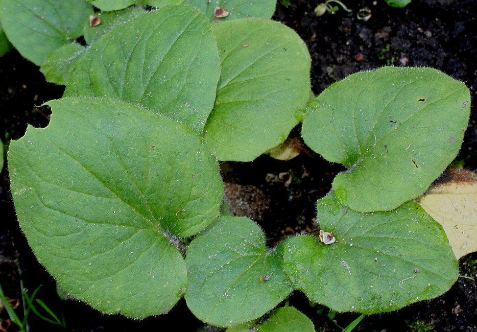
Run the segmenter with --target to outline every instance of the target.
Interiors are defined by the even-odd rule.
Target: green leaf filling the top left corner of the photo
[[[41,66],[47,55],[83,34],[92,13],[84,0],[2,0],[0,20],[18,52]]]

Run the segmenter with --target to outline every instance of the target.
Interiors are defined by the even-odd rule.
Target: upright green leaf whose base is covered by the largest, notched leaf
[[[115,26],[95,42],[65,94],[140,104],[201,132],[219,76],[210,22],[188,6],[168,6]]]

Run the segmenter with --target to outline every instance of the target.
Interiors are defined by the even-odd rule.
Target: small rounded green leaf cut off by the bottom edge
[[[296,310],[293,306],[277,308],[272,311],[267,320],[258,324],[256,332],[315,332],[313,322]]]

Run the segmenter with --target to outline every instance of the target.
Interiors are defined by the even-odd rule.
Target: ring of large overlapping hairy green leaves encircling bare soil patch
[[[385,67],[323,91],[302,136],[348,167],[318,201],[320,228],[336,241],[300,235],[267,248],[250,219],[219,217],[217,159],[253,160],[303,119],[303,41],[265,18],[212,24],[189,6],[102,20],[98,31],[84,28],[81,52],[46,56],[65,96],[47,103],[50,125],[29,127],[8,153],[20,227],[71,296],[144,318],[185,294],[199,319],[229,327],[293,289],[369,314],[454,283],[444,231],[409,200],[459,151],[470,110],[463,83],[430,68]],[[281,324],[278,313],[270,317]]]

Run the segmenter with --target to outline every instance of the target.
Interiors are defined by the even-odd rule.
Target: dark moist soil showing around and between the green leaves
[[[339,10],[317,17],[316,1],[280,0],[274,19],[294,29],[308,45],[312,57],[312,89],[320,93],[328,85],[361,70],[384,65],[427,66],[467,84],[472,101],[477,88],[477,2],[475,0],[413,0],[406,8],[386,5],[384,0],[346,1],[352,13]],[[361,12],[360,12],[361,11]],[[368,17],[368,20],[359,19]],[[0,58],[0,105],[4,142],[25,133],[27,124],[45,127],[50,110],[38,106],[61,97],[63,87],[46,83],[38,67],[16,51]],[[477,171],[477,112],[472,107],[469,127],[457,160]],[[253,162],[221,164],[226,201],[235,215],[255,220],[273,246],[285,236],[316,228],[315,204],[330,190],[333,177],[343,167],[329,163],[299,139],[299,128],[290,134],[300,155],[290,161],[260,156]],[[44,172],[50,172],[45,169]],[[16,221],[9,178],[0,175],[0,284],[12,303],[21,298],[22,287],[53,312],[63,315],[68,331],[214,330],[197,320],[183,300],[167,315],[134,321],[108,316],[75,300],[60,300],[54,279],[37,263]],[[460,260],[460,274],[477,277],[477,254]],[[459,278],[444,295],[403,309],[366,316],[355,330],[362,331],[477,331],[477,285]],[[299,291],[287,300],[315,323],[320,331],[341,331],[356,313],[335,314],[309,303]],[[19,304],[21,307],[21,303]],[[18,310],[21,312],[21,310]],[[0,317],[7,318],[5,312]],[[60,331],[57,325],[30,314],[31,331]],[[339,325],[339,326],[338,326]],[[5,329],[2,322],[0,330]],[[174,326],[174,327],[171,327]],[[14,325],[8,331],[17,330]],[[218,329],[220,330],[220,329]]]

